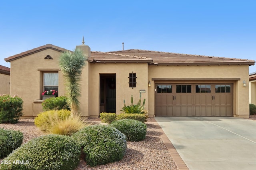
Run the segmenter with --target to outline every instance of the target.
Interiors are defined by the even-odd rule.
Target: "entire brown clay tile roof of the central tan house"
[[[52,44],[46,44],[41,47],[25,51],[23,53],[4,59],[10,62],[27,55],[37,53],[45,49],[53,49],[56,51],[68,51],[64,48]],[[130,49],[124,51],[99,52],[92,51],[89,62],[93,63],[149,63],[149,64],[164,64],[164,65],[212,65],[212,64],[248,64],[254,65],[254,60],[233,59],[224,57],[210,57],[202,55],[188,55],[178,53],[168,53],[160,51],[148,51]]]

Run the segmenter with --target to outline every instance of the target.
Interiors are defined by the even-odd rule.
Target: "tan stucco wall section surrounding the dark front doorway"
[[[116,74],[116,113],[121,113],[120,109],[126,104],[130,104],[131,95],[134,103],[140,98],[140,90],[146,90],[142,94],[142,100],[146,99],[145,109],[148,109],[148,64],[146,63],[89,63],[89,110],[91,116],[99,116],[100,113],[100,74]],[[136,88],[129,87],[129,73],[136,73]],[[81,106],[81,112],[83,107]],[[83,113],[84,114],[84,113]]]

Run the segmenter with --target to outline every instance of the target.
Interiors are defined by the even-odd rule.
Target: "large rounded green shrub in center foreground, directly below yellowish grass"
[[[85,153],[86,164],[96,166],[119,161],[126,152],[126,136],[114,127],[92,125],[74,133]]]

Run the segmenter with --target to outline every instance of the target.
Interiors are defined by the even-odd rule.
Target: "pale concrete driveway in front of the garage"
[[[256,121],[154,117],[190,170],[256,170]]]

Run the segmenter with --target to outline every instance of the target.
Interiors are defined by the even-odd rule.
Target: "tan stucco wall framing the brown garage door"
[[[234,116],[249,115],[249,86],[243,87],[243,81],[249,82],[248,65],[209,65],[209,66],[153,66],[148,67],[148,79],[152,82],[149,88],[148,110],[154,112],[154,85],[152,78],[240,78],[234,83],[233,112]],[[213,83],[216,81],[213,81]],[[219,81],[230,82],[230,81]]]

